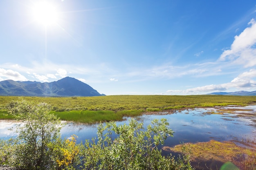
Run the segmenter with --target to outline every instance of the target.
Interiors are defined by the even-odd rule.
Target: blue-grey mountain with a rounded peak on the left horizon
[[[56,82],[20,82],[4,80],[0,82],[0,95],[2,96],[102,96],[88,84],[78,79],[65,77]]]

